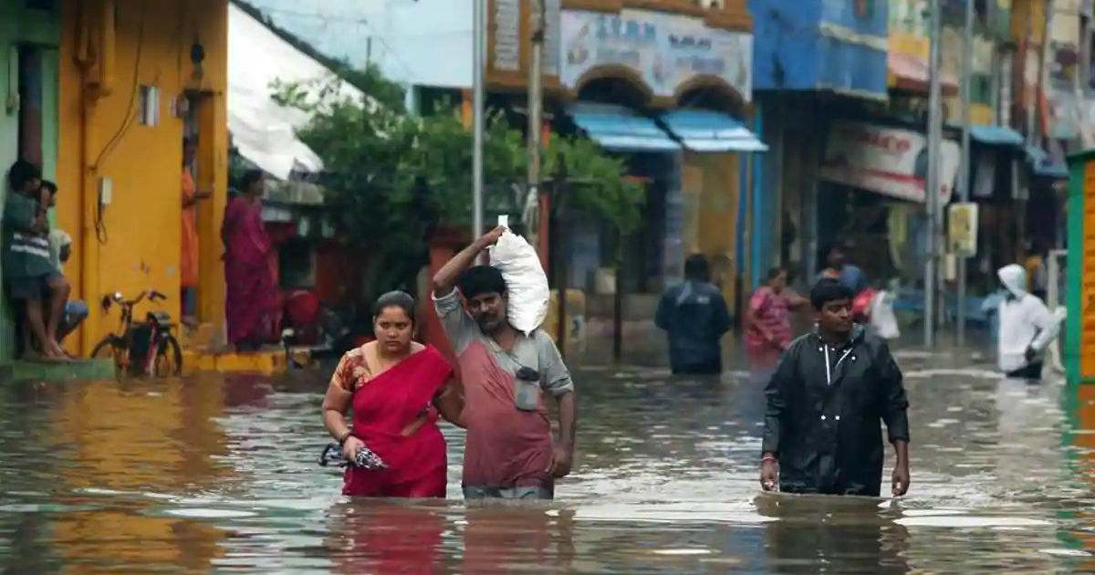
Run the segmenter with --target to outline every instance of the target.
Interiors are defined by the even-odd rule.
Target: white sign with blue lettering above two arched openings
[[[657,96],[671,97],[699,76],[724,80],[746,101],[752,96],[752,34],[708,28],[700,18],[649,10],[563,10],[560,28],[560,81],[572,90],[593,68],[623,66]]]

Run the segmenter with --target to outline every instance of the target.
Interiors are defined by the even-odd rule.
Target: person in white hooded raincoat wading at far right
[[[1007,377],[1041,379],[1042,353],[1061,330],[1061,320],[1026,290],[1026,271],[1018,264],[996,272],[1004,286],[996,343],[1000,370]]]

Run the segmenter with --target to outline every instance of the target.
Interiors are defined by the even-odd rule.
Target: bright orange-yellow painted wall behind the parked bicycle
[[[223,272],[217,230],[228,183],[228,0],[65,0],[62,7],[57,221],[73,238],[66,266],[73,297],[91,306],[81,337],[70,338],[69,345],[87,354],[116,327],[116,311],[104,317],[97,303],[104,294],[158,289],[170,299],[157,307],[180,317],[183,120],[173,115],[172,102],[184,90],[210,96],[200,114],[208,129],[201,135],[199,162],[201,184],[211,185],[215,197],[198,212],[199,306],[201,319],[219,331]],[[200,77],[189,58],[194,42],[205,48]],[[159,88],[157,126],[137,122],[135,93],[141,84]],[[96,239],[100,177],[113,181],[113,202],[102,210]]]

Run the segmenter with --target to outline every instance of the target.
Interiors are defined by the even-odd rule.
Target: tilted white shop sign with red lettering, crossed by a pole
[[[961,150],[943,140],[940,153],[940,200],[950,202]],[[835,122],[826,145],[821,177],[887,196],[924,202],[927,138],[900,128]]]

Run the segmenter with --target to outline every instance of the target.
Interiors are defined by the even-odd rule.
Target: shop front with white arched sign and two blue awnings
[[[575,128],[626,158],[647,182],[642,238],[627,242],[625,289],[659,292],[689,253],[707,255],[728,300],[748,268],[739,250],[742,207],[760,189],[756,152],[766,147],[742,118],[751,93],[747,14],[710,10],[569,9],[560,14],[560,85]],[[669,4],[669,2],[667,2]],[[678,4],[678,9],[679,3]],[[745,203],[745,204],[744,204]],[[574,221],[566,248],[573,287],[596,288],[611,262],[607,230]],[[576,277],[577,276],[577,277]]]

